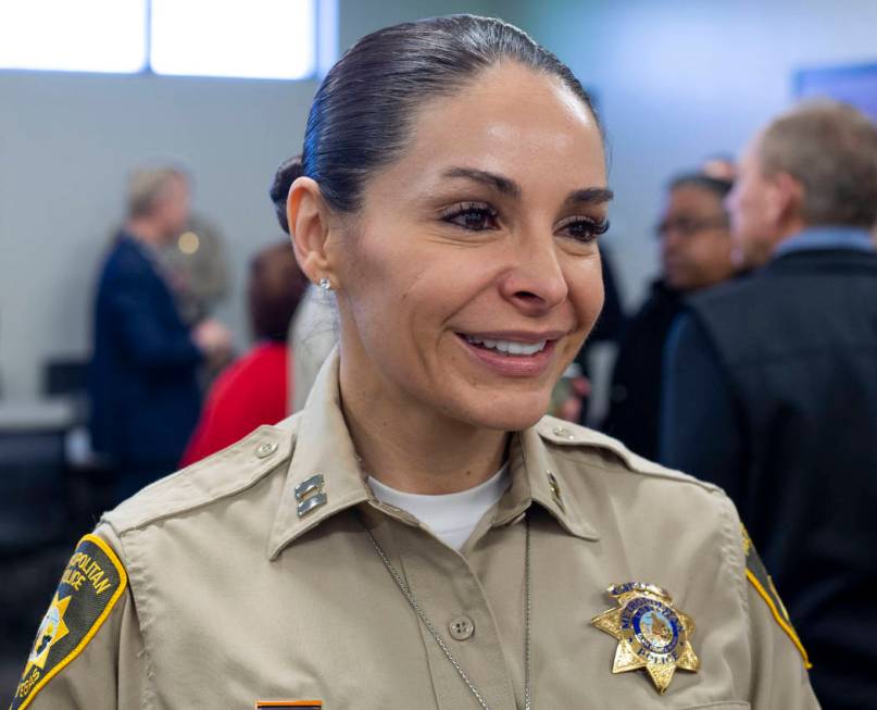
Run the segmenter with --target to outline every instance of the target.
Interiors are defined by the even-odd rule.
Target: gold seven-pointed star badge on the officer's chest
[[[664,589],[627,582],[606,591],[618,608],[594,616],[591,623],[618,639],[613,673],[644,668],[663,695],[677,668],[684,671],[700,668],[690,643],[694,622],[673,606]]]

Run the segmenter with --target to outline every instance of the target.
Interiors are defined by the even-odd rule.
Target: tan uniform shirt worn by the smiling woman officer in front
[[[366,528],[487,706],[523,707],[526,515],[534,708],[818,708],[801,655],[747,581],[721,490],[550,418],[514,435],[510,466],[504,497],[462,552],[450,549],[364,484],[333,361],[303,414],[104,515],[97,535],[127,585],[93,637],[16,707],[477,709]],[[299,515],[296,488],[315,474],[323,485],[309,496],[325,503]],[[102,573],[87,562],[76,569],[97,589]],[[606,587],[625,582],[664,587],[697,625],[700,669],[677,671],[663,695],[642,670],[613,674],[618,644],[591,623],[616,606]],[[48,658],[45,673],[59,663]]]

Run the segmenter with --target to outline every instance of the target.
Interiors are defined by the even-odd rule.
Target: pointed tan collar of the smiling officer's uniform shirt
[[[296,415],[298,433],[268,536],[270,559],[327,518],[361,503],[378,505],[360,471],[347,428],[338,371],[336,348],[321,369],[304,409]],[[536,427],[513,435],[509,457],[512,484],[497,506],[494,526],[515,522],[535,501],[567,533],[597,539],[576,501],[564,496],[557,466]],[[416,522],[405,515],[398,518]]]

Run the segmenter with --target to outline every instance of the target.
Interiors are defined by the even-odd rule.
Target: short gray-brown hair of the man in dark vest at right
[[[877,125],[857,109],[822,99],[779,116],[759,142],[762,172],[804,187],[805,224],[870,228],[877,221]]]

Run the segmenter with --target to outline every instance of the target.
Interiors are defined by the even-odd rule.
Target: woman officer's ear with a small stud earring
[[[310,177],[299,177],[292,183],[286,200],[289,234],[299,266],[314,284],[321,278],[334,281],[326,256],[330,215],[320,185]]]

